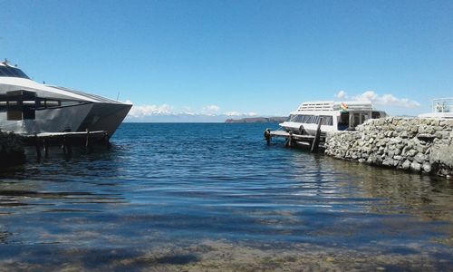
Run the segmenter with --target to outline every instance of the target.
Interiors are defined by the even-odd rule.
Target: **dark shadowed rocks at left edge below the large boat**
[[[13,132],[0,131],[0,170],[25,162],[24,145]]]

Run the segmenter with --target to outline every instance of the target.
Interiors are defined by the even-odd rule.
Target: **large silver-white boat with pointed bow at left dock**
[[[19,134],[107,131],[111,136],[131,108],[98,95],[36,83],[6,60],[0,63],[0,129]]]

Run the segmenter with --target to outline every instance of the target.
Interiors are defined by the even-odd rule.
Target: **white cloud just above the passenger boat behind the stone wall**
[[[374,91],[362,92],[355,96],[349,96],[346,92],[340,91],[335,94],[335,97],[352,101],[371,101],[377,105],[397,106],[400,108],[417,108],[420,106],[419,102],[408,98],[397,98],[393,94],[379,95]]]

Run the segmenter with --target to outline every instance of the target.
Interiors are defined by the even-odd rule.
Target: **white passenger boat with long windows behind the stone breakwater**
[[[375,111],[371,102],[303,102],[287,121],[280,123],[285,131],[296,134],[314,135],[321,122],[321,131],[354,130],[368,119],[385,117],[387,114]]]

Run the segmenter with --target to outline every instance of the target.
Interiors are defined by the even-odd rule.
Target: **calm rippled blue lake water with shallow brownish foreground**
[[[266,146],[275,124],[125,123],[0,173],[0,270],[453,267],[453,183]],[[3,267],[3,268],[2,268]]]

